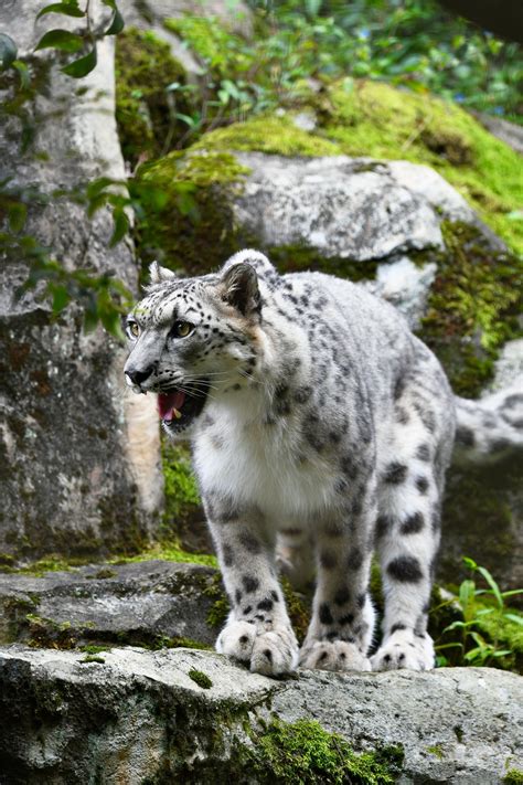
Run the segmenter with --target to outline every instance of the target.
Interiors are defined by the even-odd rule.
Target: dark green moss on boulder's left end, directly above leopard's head
[[[241,246],[232,197],[248,172],[227,152],[172,152],[140,167],[137,229],[141,256],[177,272],[207,273]],[[146,199],[143,200],[143,197]]]

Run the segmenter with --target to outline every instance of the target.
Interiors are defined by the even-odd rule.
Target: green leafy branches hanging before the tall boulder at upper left
[[[54,28],[42,35],[34,52],[51,49],[57,54],[78,55],[61,66],[67,76],[79,79],[89,74],[97,64],[97,42],[106,35],[117,35],[124,30],[124,19],[116,0],[102,0],[111,10],[109,22],[99,30],[94,30],[90,18],[90,0],[81,8],[78,0],[64,0],[45,6],[36,20],[46,14],[83,20],[78,31]],[[0,72],[8,91],[2,114],[21,120],[21,151],[25,152],[34,139],[35,123],[25,105],[34,102],[46,85],[40,79],[39,68],[32,57],[18,59],[18,47],[12,38],[0,33]],[[11,76],[10,76],[11,75]],[[12,78],[12,76],[18,76]],[[7,77],[7,79],[6,79]],[[45,155],[45,153],[40,153]],[[121,337],[120,315],[129,307],[131,295],[122,282],[113,274],[96,275],[90,270],[66,270],[54,258],[52,250],[42,246],[38,238],[24,234],[30,208],[42,208],[52,201],[68,198],[84,204],[88,218],[103,206],[108,206],[113,214],[114,231],[109,246],[119,243],[129,230],[129,210],[131,200],[125,182],[99,178],[88,183],[83,190],[56,190],[51,194],[42,193],[35,187],[20,188],[14,179],[7,177],[0,181],[0,211],[4,216],[4,231],[0,232],[0,250],[8,257],[17,256],[29,262],[29,276],[19,290],[19,296],[38,287],[38,299],[50,299],[52,311],[58,315],[71,301],[83,307],[84,327],[93,330],[98,322],[115,336]]]

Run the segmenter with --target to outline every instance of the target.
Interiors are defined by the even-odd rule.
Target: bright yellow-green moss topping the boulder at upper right
[[[350,156],[426,163],[523,252],[521,159],[451,102],[378,82],[344,79],[318,98],[323,135]]]

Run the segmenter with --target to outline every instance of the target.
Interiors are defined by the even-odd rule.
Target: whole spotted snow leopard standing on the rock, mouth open
[[[153,263],[127,335],[128,385],[158,394],[166,433],[191,441],[231,603],[217,651],[274,677],[298,665],[433,668],[427,614],[455,435],[480,452],[513,443],[523,394],[490,410],[456,397],[392,305],[322,273],[280,275],[253,250],[199,277]],[[316,576],[301,647],[281,574],[297,587]]]

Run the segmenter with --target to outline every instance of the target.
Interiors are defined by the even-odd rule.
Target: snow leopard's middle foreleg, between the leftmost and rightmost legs
[[[300,664],[322,670],[371,670],[374,630],[369,595],[372,531],[376,516],[374,476],[355,482],[344,503],[318,522],[317,588]]]

